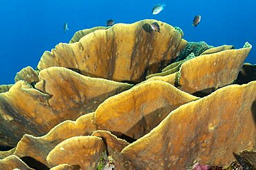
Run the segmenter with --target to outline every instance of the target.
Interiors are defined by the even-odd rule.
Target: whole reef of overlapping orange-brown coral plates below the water
[[[251,47],[152,19],[80,30],[0,86],[0,167],[255,169]]]

